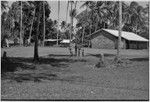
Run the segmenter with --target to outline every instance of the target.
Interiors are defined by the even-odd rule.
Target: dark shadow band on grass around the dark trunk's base
[[[15,72],[18,69],[21,70],[36,70],[36,66],[40,65],[50,65],[51,68],[61,71],[68,67],[70,63],[75,62],[86,62],[83,59],[71,59],[71,58],[43,58],[41,57],[38,63],[33,63],[33,58],[23,58],[23,57],[9,57],[8,60],[2,60],[2,73]],[[43,67],[49,68],[49,67]],[[49,69],[50,70],[50,69]]]

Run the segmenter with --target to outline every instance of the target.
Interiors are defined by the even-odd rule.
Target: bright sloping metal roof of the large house
[[[111,29],[102,29],[106,32],[109,32],[110,34],[118,37],[119,36],[119,31],[118,30],[111,30]],[[134,34],[132,32],[125,32],[125,31],[122,31],[121,33],[121,37],[123,37],[124,39],[126,40],[129,40],[129,41],[145,41],[147,42],[148,40],[137,35],[137,34]]]

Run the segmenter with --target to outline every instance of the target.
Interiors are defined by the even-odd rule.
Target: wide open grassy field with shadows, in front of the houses
[[[148,100],[148,50],[122,50],[128,61],[113,64],[115,50],[85,49],[85,57],[70,57],[67,48],[40,47],[33,63],[33,47],[2,49],[1,98],[42,100]],[[96,68],[104,53],[106,67]]]

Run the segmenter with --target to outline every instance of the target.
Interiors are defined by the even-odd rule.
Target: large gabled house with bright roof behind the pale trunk
[[[118,46],[118,30],[100,29],[87,38],[90,40],[92,48],[116,49]],[[147,49],[148,40],[132,32],[122,31],[122,49]]]

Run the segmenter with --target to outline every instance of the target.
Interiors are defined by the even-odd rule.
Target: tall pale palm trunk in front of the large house
[[[120,50],[121,50],[121,30],[122,30],[122,2],[119,2],[119,39],[117,47],[117,60],[120,60]]]

